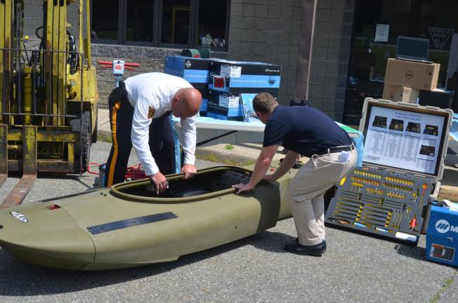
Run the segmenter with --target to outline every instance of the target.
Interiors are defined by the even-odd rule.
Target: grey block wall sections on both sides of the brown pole
[[[280,104],[294,97],[300,0],[232,0],[228,58],[282,65]],[[341,121],[355,0],[318,0],[310,67],[313,106]]]

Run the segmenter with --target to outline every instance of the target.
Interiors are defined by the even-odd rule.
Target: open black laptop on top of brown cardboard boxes
[[[396,58],[428,61],[429,40],[398,36]]]

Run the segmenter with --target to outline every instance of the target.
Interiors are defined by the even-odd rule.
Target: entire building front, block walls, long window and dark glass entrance
[[[36,37],[43,1],[25,3],[25,32]],[[77,24],[72,5],[69,22]],[[302,0],[92,0],[93,64],[139,63],[126,77],[162,72],[164,56],[199,48],[205,36],[211,38],[212,57],[282,65],[279,102],[288,105],[296,72],[303,72],[297,70],[302,5]],[[431,40],[431,60],[441,63],[445,86],[452,39],[444,36],[436,49],[433,34],[454,32],[457,12],[453,0],[317,0],[308,100],[336,121],[357,124],[364,97],[381,97],[386,60],[395,56],[398,36]],[[375,39],[378,25],[389,25],[383,41]],[[97,71],[99,106],[107,107],[114,77],[100,65]]]

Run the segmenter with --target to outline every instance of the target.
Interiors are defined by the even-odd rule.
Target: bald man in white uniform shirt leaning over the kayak
[[[195,175],[195,119],[202,103],[188,81],[162,73],[145,73],[119,82],[108,99],[112,149],[105,187],[124,182],[132,146],[157,194],[167,188],[164,175],[175,173],[175,150],[169,115],[181,119],[185,179]]]

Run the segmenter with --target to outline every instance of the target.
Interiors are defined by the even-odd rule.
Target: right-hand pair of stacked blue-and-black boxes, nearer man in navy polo
[[[262,62],[211,59],[207,115],[216,119],[244,121],[240,95],[270,93],[278,97],[281,70],[280,65]]]

